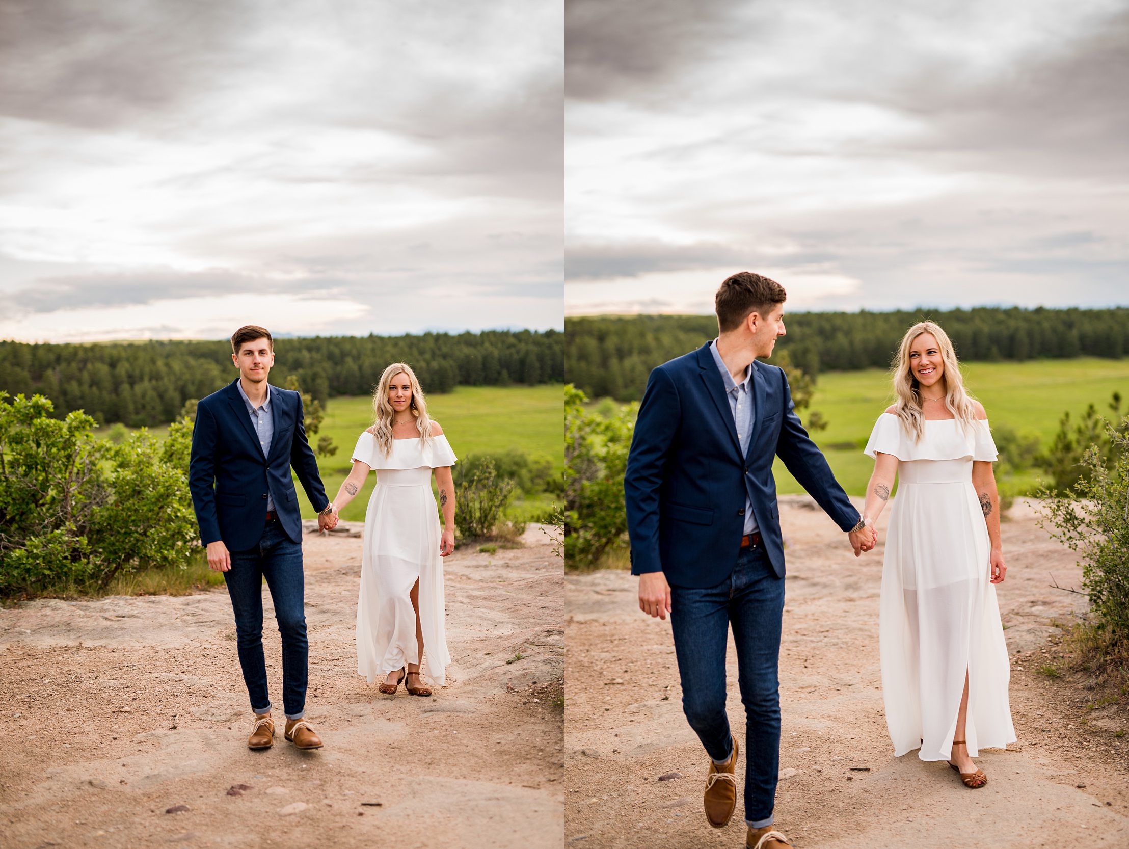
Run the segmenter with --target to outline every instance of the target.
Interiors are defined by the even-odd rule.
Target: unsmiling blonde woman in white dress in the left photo
[[[455,550],[455,453],[411,367],[393,362],[373,395],[376,423],[360,435],[353,467],[333,499],[340,510],[360,491],[370,470],[376,487],[365,513],[365,542],[357,602],[357,672],[382,693],[401,681],[412,695],[430,695],[421,664],[438,685],[446,683],[443,561]],[[431,492],[435,472],[443,528]],[[422,655],[422,657],[421,657]]]

